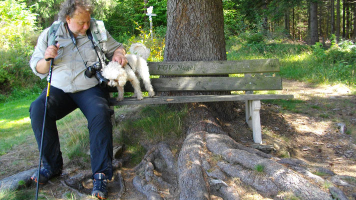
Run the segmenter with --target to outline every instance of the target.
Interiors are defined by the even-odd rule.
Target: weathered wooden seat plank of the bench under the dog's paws
[[[139,105],[139,104],[163,104],[163,103],[188,103],[188,102],[214,102],[235,100],[262,100],[262,99],[288,99],[291,94],[231,94],[231,95],[195,95],[195,96],[154,96],[144,97],[143,100],[136,98],[124,98],[117,101],[110,98],[110,105]]]

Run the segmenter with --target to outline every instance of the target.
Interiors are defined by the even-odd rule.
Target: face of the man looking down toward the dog
[[[81,7],[74,11],[73,17],[67,16],[66,20],[75,37],[86,35],[87,30],[90,28],[90,12]]]

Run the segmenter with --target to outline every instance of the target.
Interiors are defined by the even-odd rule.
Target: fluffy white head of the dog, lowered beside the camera
[[[127,80],[126,72],[119,62],[110,61],[106,66],[103,66],[101,71],[102,75],[109,79],[109,86],[125,85]]]

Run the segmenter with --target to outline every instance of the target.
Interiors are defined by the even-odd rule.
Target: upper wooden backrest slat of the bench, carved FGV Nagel
[[[151,75],[217,75],[278,72],[278,59],[148,62]]]

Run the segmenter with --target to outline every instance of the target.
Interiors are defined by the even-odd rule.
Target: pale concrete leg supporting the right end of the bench
[[[261,120],[259,117],[259,110],[261,109],[260,100],[246,100],[246,122],[252,129],[253,141],[256,143],[262,143],[261,135]]]

